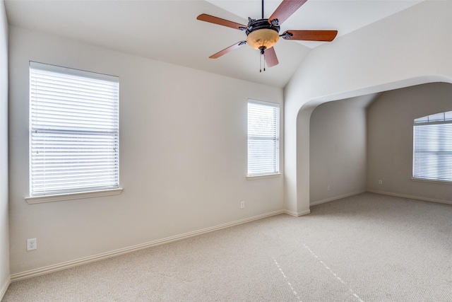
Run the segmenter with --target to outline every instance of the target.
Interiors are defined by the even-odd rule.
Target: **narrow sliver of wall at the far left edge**
[[[0,300],[8,280],[8,22],[0,0]]]

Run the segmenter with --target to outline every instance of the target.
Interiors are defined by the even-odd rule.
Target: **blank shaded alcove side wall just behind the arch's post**
[[[372,97],[323,103],[312,112],[311,205],[366,191],[366,106]]]

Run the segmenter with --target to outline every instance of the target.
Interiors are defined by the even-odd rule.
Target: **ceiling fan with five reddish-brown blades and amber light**
[[[264,71],[265,63],[268,67],[277,65],[278,57],[276,57],[273,45],[278,42],[279,37],[283,37],[284,40],[305,40],[305,41],[323,41],[331,42],[338,34],[337,30],[286,30],[280,35],[280,25],[287,20],[292,13],[295,13],[297,9],[302,6],[307,0],[283,0],[280,6],[276,8],[270,18],[263,18],[263,0],[262,0],[262,18],[251,19],[248,18],[248,25],[242,25],[232,21],[228,21],[222,18],[207,15],[201,13],[196,19],[200,21],[206,21],[237,30],[244,30],[246,33],[246,40],[240,41],[231,45],[230,47],[221,50],[215,54],[212,54],[209,58],[216,59],[223,54],[227,54],[232,50],[248,44],[256,50],[260,50],[261,56],[264,58]]]

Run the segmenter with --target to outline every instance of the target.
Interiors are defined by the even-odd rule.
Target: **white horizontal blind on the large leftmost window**
[[[30,196],[119,187],[119,79],[30,62]]]

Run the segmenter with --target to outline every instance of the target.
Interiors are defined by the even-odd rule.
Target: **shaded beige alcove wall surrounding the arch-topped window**
[[[451,111],[451,95],[452,84],[429,83],[387,91],[372,103],[367,134],[369,191],[452,203],[451,184],[411,179],[413,120]]]

